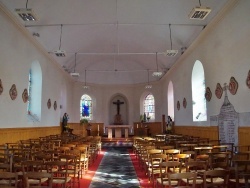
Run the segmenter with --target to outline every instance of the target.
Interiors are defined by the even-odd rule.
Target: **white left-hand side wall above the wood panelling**
[[[68,91],[72,90],[71,80],[65,76],[63,70],[45,53],[34,45],[34,39],[19,28],[13,21],[0,11],[0,79],[4,91],[0,95],[0,128],[57,126],[60,122],[61,88],[62,83]],[[38,61],[42,69],[42,109],[40,122],[29,122],[27,119],[27,103],[22,100],[22,92],[28,87],[28,75],[31,63]],[[18,96],[11,100],[9,89],[12,84],[17,87]],[[72,97],[69,93],[67,104],[71,111]],[[47,108],[47,101],[51,99],[52,107]],[[57,110],[53,109],[57,101]]]

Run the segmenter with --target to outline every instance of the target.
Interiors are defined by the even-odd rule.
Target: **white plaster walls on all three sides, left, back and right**
[[[156,102],[156,120],[161,121],[162,114],[167,116],[167,87],[171,80],[174,86],[175,124],[176,125],[210,125],[209,116],[217,115],[223,103],[223,97],[217,99],[214,90],[217,83],[228,83],[234,76],[239,83],[238,92],[229,100],[237,112],[249,112],[250,90],[245,81],[250,69],[250,1],[239,3],[218,24],[206,27],[203,34],[171,68],[167,75],[151,89]],[[59,125],[64,112],[68,112],[70,122],[79,122],[80,97],[86,93],[94,101],[94,121],[109,124],[109,104],[112,96],[123,94],[128,100],[128,121],[132,124],[139,121],[140,98],[146,90],[144,84],[134,86],[100,86],[90,84],[85,91],[81,83],[72,81],[68,74],[57,67],[48,55],[45,55],[31,36],[15,26],[10,18],[0,11],[0,79],[4,92],[0,95],[0,128],[27,126]],[[191,75],[196,60],[203,63],[206,86],[210,87],[213,96],[207,103],[208,121],[192,121]],[[41,122],[27,122],[26,104],[22,102],[21,93],[28,86],[28,70],[32,61],[38,61],[43,73],[42,116]],[[9,89],[16,84],[18,97],[12,101]],[[88,83],[87,83],[88,84]],[[88,84],[89,85],[89,84]],[[182,107],[183,98],[187,100],[187,108]],[[47,108],[47,100],[52,104],[57,101],[58,108]],[[177,100],[181,103],[180,111],[176,109]],[[62,104],[63,108],[59,106]]]

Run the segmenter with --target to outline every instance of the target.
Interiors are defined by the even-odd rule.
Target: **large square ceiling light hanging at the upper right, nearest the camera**
[[[188,17],[190,19],[204,20],[207,15],[211,12],[211,8],[202,7],[201,1],[199,0],[200,6],[194,7],[192,11],[189,13]]]

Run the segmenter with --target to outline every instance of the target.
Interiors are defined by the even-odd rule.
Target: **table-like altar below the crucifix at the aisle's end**
[[[115,138],[122,137],[122,129],[125,131],[125,138],[128,138],[129,131],[131,131],[132,127],[132,125],[106,125],[105,129],[108,129],[108,138],[113,137],[113,129],[115,130]]]

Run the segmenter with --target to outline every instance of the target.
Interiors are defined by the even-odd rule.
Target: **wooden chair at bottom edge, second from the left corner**
[[[26,188],[52,188],[52,181],[53,174],[51,173],[26,172],[24,174],[24,183]]]

